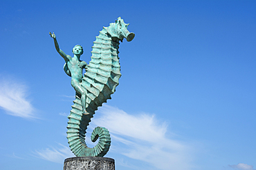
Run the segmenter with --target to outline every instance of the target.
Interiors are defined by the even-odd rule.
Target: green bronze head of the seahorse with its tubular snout
[[[121,17],[118,17],[115,23],[110,23],[109,27],[105,28],[107,33],[111,35],[113,41],[120,40],[124,38],[127,41],[134,39],[135,34],[127,30],[129,23],[125,23]]]

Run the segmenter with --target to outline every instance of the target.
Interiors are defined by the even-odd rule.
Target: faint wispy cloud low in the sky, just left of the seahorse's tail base
[[[64,159],[75,156],[69,147],[61,144],[59,145],[60,147],[57,149],[51,147],[35,151],[34,156],[57,163],[63,163]]]

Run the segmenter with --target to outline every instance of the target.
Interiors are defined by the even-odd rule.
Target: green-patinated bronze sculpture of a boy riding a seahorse
[[[76,81],[80,80],[78,84],[71,79],[71,85],[73,87],[77,86],[74,87],[76,91],[75,100],[73,101],[74,105],[72,105],[71,114],[68,116],[68,131],[66,133],[69,147],[71,147],[71,151],[75,156],[103,157],[109,151],[111,139],[106,128],[96,127],[93,130],[91,140],[95,142],[99,138],[98,144],[93,148],[86,146],[85,134],[95,111],[102,106],[102,103],[106,103],[107,99],[111,98],[111,94],[115,92],[118,85],[121,76],[118,57],[119,41],[122,42],[124,38],[127,41],[131,41],[135,36],[134,33],[130,33],[127,30],[128,25],[121,17],[118,17],[115,23],[110,23],[109,27],[103,27],[99,36],[96,36],[96,40],[93,42],[89,65],[86,65],[84,61],[80,61],[80,55],[78,54],[82,54],[82,47],[75,45],[73,48],[73,53],[75,54],[73,58],[77,56],[77,62],[80,62],[78,65],[86,70],[83,77],[74,79]],[[62,50],[59,49],[55,34],[50,32],[50,35],[55,40],[57,52],[66,61],[64,65],[66,74],[73,77],[72,68],[68,68],[67,63],[71,56],[64,56],[64,52],[62,54]],[[83,101],[83,96],[85,101]]]

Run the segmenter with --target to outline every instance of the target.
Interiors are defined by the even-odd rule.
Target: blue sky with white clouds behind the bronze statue
[[[109,129],[116,169],[256,169],[256,1],[1,1],[1,169],[62,169],[71,55],[118,17],[122,77],[87,130]]]

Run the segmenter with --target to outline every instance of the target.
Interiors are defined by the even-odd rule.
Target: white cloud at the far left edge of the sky
[[[12,78],[1,78],[0,107],[12,116],[36,118],[35,109],[27,99],[28,87],[24,83],[15,82]]]

